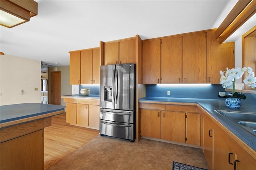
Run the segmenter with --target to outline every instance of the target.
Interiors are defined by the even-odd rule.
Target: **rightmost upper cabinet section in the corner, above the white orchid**
[[[220,70],[234,68],[234,42],[219,43],[215,31],[207,32],[207,83],[220,83]]]

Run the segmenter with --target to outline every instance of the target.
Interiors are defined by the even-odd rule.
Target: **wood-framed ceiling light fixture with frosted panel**
[[[37,6],[34,0],[0,0],[0,25],[12,28],[28,22],[37,15]]]

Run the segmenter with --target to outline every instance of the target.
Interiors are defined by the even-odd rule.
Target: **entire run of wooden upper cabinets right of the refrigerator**
[[[220,83],[234,67],[234,42],[220,44],[215,30],[143,40],[143,84]]]

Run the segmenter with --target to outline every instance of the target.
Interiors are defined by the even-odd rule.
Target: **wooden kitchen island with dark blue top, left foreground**
[[[0,169],[44,169],[44,128],[66,107],[40,103],[0,106]]]

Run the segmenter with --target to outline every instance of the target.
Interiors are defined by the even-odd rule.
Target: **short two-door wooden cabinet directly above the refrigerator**
[[[136,63],[135,47],[135,37],[104,42],[104,65]]]

